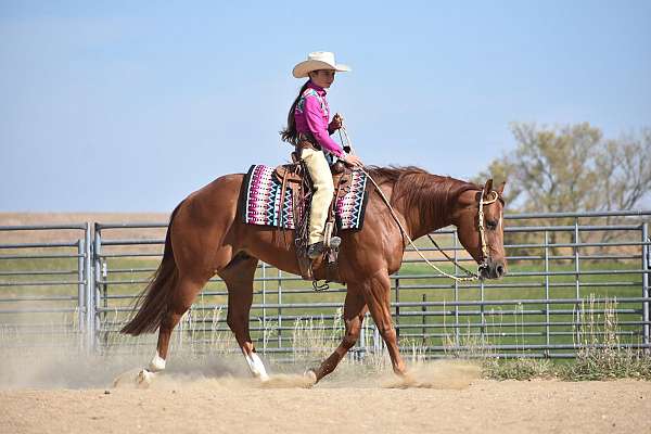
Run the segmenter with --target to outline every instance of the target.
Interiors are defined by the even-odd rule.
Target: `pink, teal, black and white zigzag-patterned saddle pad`
[[[275,169],[265,165],[251,166],[244,178],[244,191],[241,196],[242,218],[250,225],[294,229],[292,190],[285,189],[280,209],[282,183],[273,176]],[[337,197],[335,206],[339,229],[361,229],[367,200],[366,183],[366,174],[354,170],[349,181],[344,184],[346,192]]]

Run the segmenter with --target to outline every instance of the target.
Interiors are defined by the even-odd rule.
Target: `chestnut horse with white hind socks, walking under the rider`
[[[355,345],[367,309],[386,343],[394,372],[405,373],[392,323],[390,275],[400,268],[407,237],[416,240],[454,225],[461,244],[483,264],[480,267],[483,278],[496,279],[506,272],[503,183],[494,190],[490,179],[485,186],[477,186],[417,167],[367,167],[366,170],[394,213],[378,188],[370,187],[362,229],[341,233],[339,269],[347,285],[346,332],[334,353],[319,368],[308,371],[315,383],[332,372]],[[171,213],[163,260],[139,299],[138,312],[122,329],[132,335],[159,329],[156,355],[140,372],[139,382],[149,383],[155,372],[165,369],[171,331],[214,275],[224,279],[228,288],[227,322],[253,375],[263,381],[268,379],[248,332],[255,270],[258,260],[264,260],[283,271],[301,272],[293,231],[242,221],[238,202],[243,180],[241,174],[220,177],[190,194]],[[484,201],[487,203],[483,204]],[[478,218],[480,203],[483,225]],[[322,271],[315,270],[315,277],[322,279]]]

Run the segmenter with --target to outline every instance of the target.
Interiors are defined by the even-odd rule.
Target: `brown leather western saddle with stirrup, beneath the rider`
[[[273,177],[281,186],[280,208],[282,209],[284,207],[284,200],[288,197],[286,190],[291,190],[294,205],[293,215],[295,219],[294,244],[296,247],[296,259],[298,261],[298,268],[301,269],[301,276],[305,280],[311,280],[315,290],[322,291],[328,289],[328,282],[344,283],[337,267],[339,246],[330,245],[330,240],[339,232],[335,221],[335,206],[337,201],[341,201],[343,196],[350,191],[350,189],[346,189],[346,187],[350,184],[353,171],[346,168],[342,162],[336,162],[330,166],[334,183],[334,194],[330,203],[323,232],[324,250],[320,257],[312,260],[307,256],[309,237],[308,224],[311,194],[314,191],[312,182],[303,161],[298,158],[296,152],[292,152],[292,161],[293,163],[291,164],[280,165],[273,169]],[[324,280],[327,283],[318,285],[317,279],[315,278],[315,270],[320,270],[321,268],[324,269]]]

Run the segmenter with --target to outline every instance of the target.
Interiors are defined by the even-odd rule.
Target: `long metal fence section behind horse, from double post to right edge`
[[[615,317],[617,345],[649,347],[650,212],[559,213],[506,216],[509,276],[500,281],[457,283],[433,273],[411,248],[392,276],[394,322],[404,350],[419,357],[573,357],[598,346],[607,331],[595,328]],[[161,258],[166,225],[97,225],[95,260],[102,271],[99,335],[106,345],[146,344],[153,339],[117,335],[133,294],[144,288]],[[116,230],[156,228],[154,238],[113,238]],[[467,267],[474,263],[454,228],[434,233],[448,255]],[[98,243],[98,240],[101,242]],[[459,276],[425,241],[430,260]],[[146,247],[146,252],[140,250]],[[111,248],[106,253],[104,248]],[[647,259],[644,259],[647,258]],[[136,266],[138,264],[139,266]],[[446,268],[447,267],[447,268]],[[260,264],[254,280],[251,330],[259,350],[296,357],[310,348],[331,350],[343,331],[345,288],[315,293],[309,282]],[[237,350],[226,326],[227,289],[212,279],[175,335],[173,344]],[[608,318],[607,318],[608,317]],[[588,330],[589,329],[589,330]],[[582,341],[583,340],[583,341]],[[370,318],[353,357],[381,348]],[[355,354],[357,353],[357,354]],[[283,357],[284,357],[283,356]]]

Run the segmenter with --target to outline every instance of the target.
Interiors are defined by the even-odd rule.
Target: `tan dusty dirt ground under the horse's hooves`
[[[0,433],[651,433],[651,382],[496,382],[432,362],[407,381],[344,365],[308,388],[302,366],[270,366],[261,385],[233,358],[177,360],[138,390],[133,363],[0,361]]]

